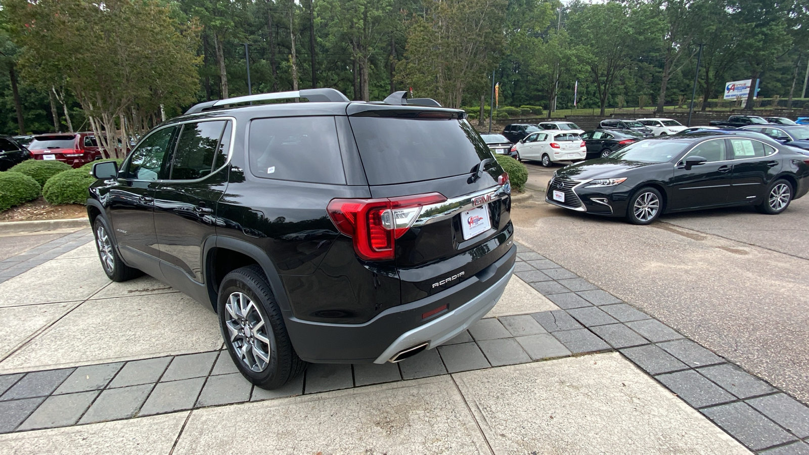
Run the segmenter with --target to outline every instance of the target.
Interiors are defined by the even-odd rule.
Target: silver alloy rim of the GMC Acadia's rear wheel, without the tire
[[[242,292],[233,292],[227,298],[225,309],[228,342],[233,351],[252,371],[263,372],[269,364],[269,336],[256,303]]]

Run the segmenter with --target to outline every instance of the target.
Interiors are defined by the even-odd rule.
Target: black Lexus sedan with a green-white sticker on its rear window
[[[809,159],[783,144],[710,131],[638,141],[554,172],[545,202],[649,224],[663,213],[755,206],[777,215],[809,191]]]

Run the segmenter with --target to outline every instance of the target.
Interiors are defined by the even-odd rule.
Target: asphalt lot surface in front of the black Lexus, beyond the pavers
[[[544,189],[555,168],[527,163]],[[517,240],[809,402],[809,198],[663,215],[650,226],[543,202],[515,206]]]

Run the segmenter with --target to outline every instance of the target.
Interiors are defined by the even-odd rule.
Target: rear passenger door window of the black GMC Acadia
[[[220,120],[182,125],[172,157],[172,172],[168,178],[196,180],[221,166],[227,159],[227,150],[222,150],[220,146],[226,123],[229,122]]]

